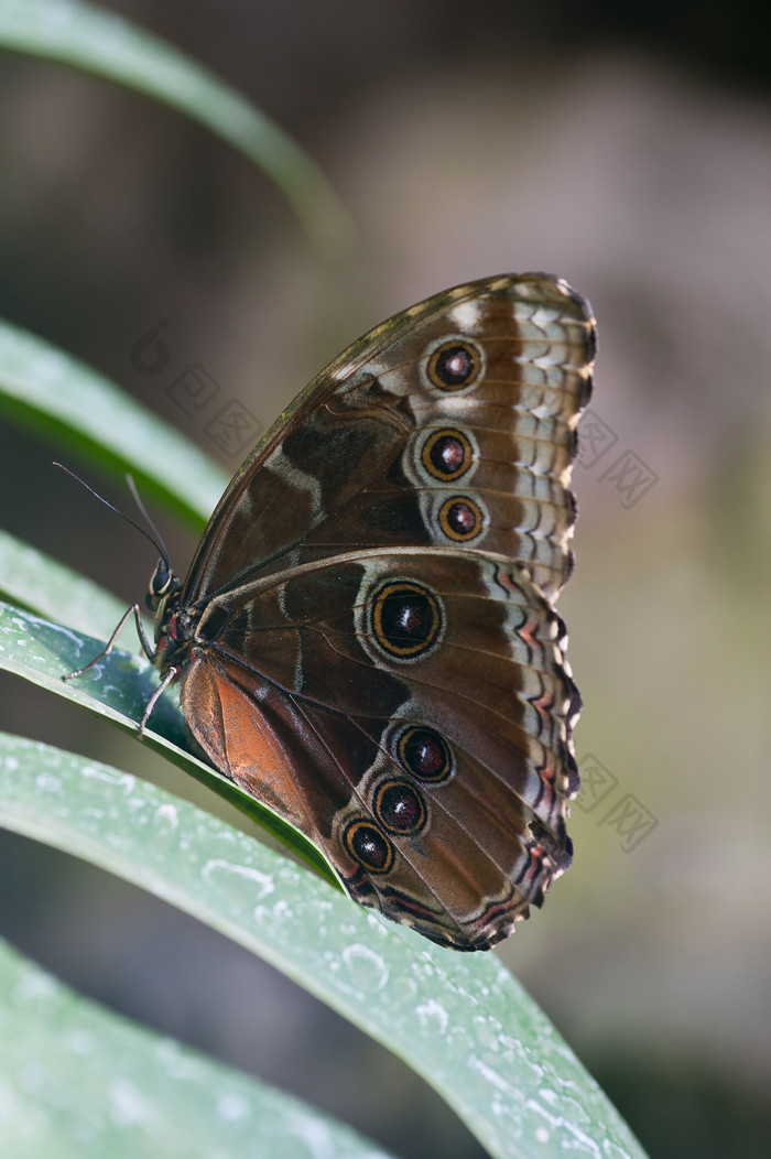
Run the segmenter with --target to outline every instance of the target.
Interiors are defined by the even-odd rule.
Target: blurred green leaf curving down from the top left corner
[[[177,109],[254,161],[328,255],[355,229],[314,161],[245,96],[159,36],[80,0],[0,0],[0,45],[124,85]]]

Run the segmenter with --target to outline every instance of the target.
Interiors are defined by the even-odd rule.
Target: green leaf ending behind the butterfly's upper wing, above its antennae
[[[143,491],[201,532],[228,476],[174,427],[108,379],[0,320],[0,406]]]

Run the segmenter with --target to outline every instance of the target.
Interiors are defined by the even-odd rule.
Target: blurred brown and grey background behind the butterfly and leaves
[[[560,608],[587,788],[574,868],[501,956],[652,1156],[768,1154],[763,6],[108,7],[261,104],[361,228],[354,255],[325,263],[261,173],[204,130],[0,58],[0,315],[212,453],[167,381],[131,365],[161,316],[179,366],[202,362],[268,424],[359,333],[453,283],[545,269],[591,299],[601,352],[574,475],[579,568]],[[152,553],[50,459],[0,423],[2,525],[126,602],[141,596]],[[183,569],[192,544],[169,538]],[[195,795],[71,706],[8,678],[1,695],[2,727]],[[246,952],[20,838],[0,833],[0,933],[80,990],[405,1157],[479,1153],[410,1073]]]

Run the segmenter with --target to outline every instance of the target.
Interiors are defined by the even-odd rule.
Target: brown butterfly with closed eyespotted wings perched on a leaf
[[[151,581],[143,727],[177,680],[220,772],[357,902],[454,949],[501,941],[570,863],[581,700],[554,600],[594,352],[589,304],[548,275],[413,306],[274,424],[184,583],[165,559]]]

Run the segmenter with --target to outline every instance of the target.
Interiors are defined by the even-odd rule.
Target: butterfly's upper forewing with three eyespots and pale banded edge
[[[339,552],[463,544],[523,564],[553,599],[594,349],[588,304],[547,275],[458,286],[377,327],[245,462],[183,602]]]

